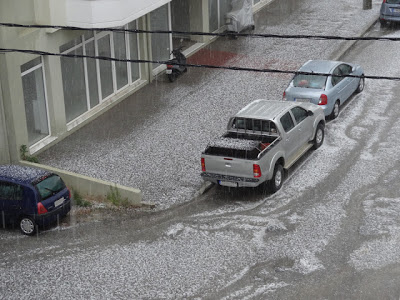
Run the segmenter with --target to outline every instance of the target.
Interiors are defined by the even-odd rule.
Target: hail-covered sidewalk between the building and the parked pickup
[[[289,2],[294,8],[275,0],[260,10],[256,32],[361,36],[377,20],[381,3],[373,0],[372,10],[364,11],[362,0]],[[309,59],[339,59],[350,46],[341,41],[219,38],[189,62],[297,70]],[[170,83],[163,74],[39,159],[139,188],[143,201],[166,209],[190,201],[202,187],[200,154],[224,132],[228,118],[254,99],[281,99],[290,77],[190,68]]]

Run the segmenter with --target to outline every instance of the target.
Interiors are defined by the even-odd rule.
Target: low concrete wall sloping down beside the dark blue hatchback
[[[95,179],[89,176],[80,175],[73,172],[53,168],[46,165],[35,164],[27,161],[20,161],[21,165],[35,167],[56,173],[61,176],[65,184],[71,189],[79,192],[82,196],[100,196],[107,197],[111,187],[116,187],[121,195],[121,198],[127,198],[134,206],[142,206],[142,192],[139,189],[126,187],[112,182]]]

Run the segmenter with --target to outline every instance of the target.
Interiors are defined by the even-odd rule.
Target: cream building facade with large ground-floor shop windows
[[[253,0],[254,8],[267,1]],[[189,55],[212,38],[107,29],[221,31],[231,2],[0,0],[3,23],[82,28],[0,26],[0,48],[165,61],[176,41],[185,41]],[[0,52],[0,69],[1,164],[18,162],[22,145],[34,155],[57,143],[151,82],[165,65]]]

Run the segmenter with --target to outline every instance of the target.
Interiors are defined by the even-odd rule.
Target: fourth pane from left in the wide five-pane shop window
[[[114,57],[117,59],[126,59],[125,32],[114,32]],[[128,65],[126,62],[116,61],[115,71],[117,76],[117,90],[128,84]]]

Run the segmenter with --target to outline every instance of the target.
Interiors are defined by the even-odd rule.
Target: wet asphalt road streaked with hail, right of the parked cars
[[[343,60],[399,76],[397,49],[357,43]],[[34,238],[2,230],[0,297],[399,299],[399,92],[367,80],[274,195],[213,188],[164,210],[70,217]]]

